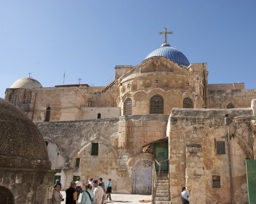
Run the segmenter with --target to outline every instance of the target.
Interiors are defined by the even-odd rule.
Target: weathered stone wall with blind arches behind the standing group
[[[63,189],[74,176],[80,176],[84,182],[88,177],[102,177],[104,181],[110,177],[113,192],[132,193],[136,191],[132,175],[140,175],[140,166],[152,163],[152,154],[142,153],[141,147],[166,136],[167,121],[168,115],[133,115],[36,125],[48,142],[49,159],[61,169]],[[97,156],[91,155],[92,143],[99,143]],[[138,166],[135,173],[134,165]]]

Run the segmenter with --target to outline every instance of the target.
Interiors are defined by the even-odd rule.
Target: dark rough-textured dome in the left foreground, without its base
[[[0,157],[47,160],[44,138],[35,124],[0,98]]]

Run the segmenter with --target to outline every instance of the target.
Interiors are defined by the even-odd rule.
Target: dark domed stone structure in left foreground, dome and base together
[[[35,124],[0,99],[0,203],[51,203],[55,173]]]

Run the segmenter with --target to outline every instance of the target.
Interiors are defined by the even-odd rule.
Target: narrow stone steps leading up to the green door
[[[168,173],[161,173],[156,190],[156,204],[170,204],[170,183]]]

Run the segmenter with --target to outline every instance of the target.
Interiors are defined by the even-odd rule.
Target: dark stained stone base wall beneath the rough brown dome
[[[4,187],[13,196],[13,203],[51,204],[53,177],[49,161],[0,157],[0,200]]]

